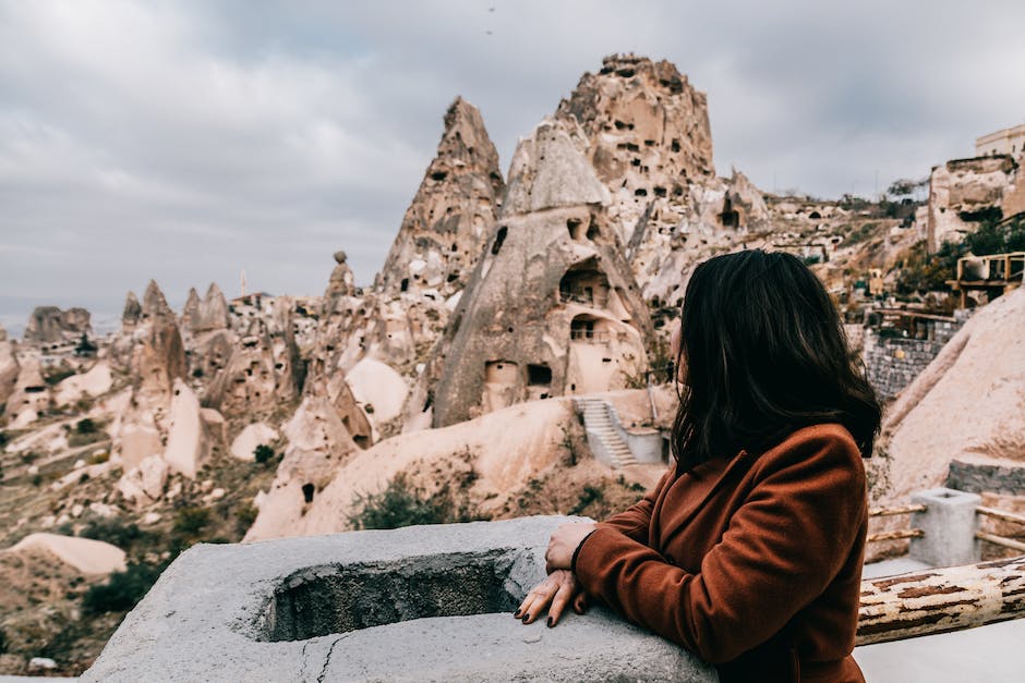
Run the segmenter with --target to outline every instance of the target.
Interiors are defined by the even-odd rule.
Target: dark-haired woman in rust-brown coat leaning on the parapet
[[[718,666],[723,681],[864,681],[851,657],[879,431],[836,308],[788,254],[698,266],[674,333],[676,463],[600,524],[553,535],[516,615],[588,597]]]

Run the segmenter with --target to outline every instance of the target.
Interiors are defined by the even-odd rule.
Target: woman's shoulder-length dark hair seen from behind
[[[798,258],[761,249],[699,265],[684,297],[687,381],[673,423],[677,472],[788,434],[840,423],[868,458],[880,406],[851,354],[840,314]]]

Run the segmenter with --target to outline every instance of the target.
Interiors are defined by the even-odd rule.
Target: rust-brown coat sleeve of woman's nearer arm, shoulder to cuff
[[[849,438],[818,434],[762,459],[749,497],[698,573],[606,526],[580,548],[583,587],[713,663],[769,639],[840,572],[867,501]]]

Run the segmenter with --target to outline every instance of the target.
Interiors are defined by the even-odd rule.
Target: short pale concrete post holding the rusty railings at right
[[[912,528],[925,532],[913,538],[908,556],[930,566],[972,564],[981,559],[976,508],[981,498],[950,488],[937,488],[912,496],[912,502],[926,505],[912,514]]]

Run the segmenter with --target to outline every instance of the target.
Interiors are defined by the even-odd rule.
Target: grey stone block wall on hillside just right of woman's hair
[[[966,315],[958,312],[953,320],[922,321],[919,329],[924,339],[885,337],[879,330],[866,330],[861,357],[868,380],[879,395],[892,399],[912,383],[961,329],[965,319]]]

